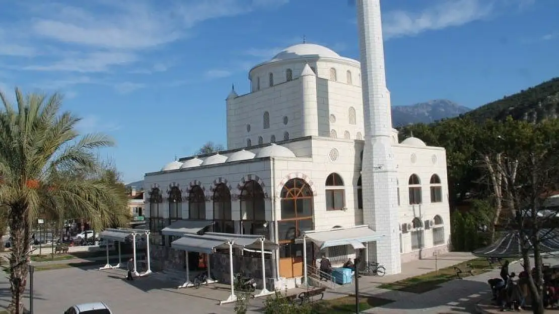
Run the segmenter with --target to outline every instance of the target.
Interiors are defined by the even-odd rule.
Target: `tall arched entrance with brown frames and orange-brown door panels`
[[[281,220],[278,221],[281,277],[303,274],[303,244],[295,243],[295,238],[302,230],[314,229],[312,205],[312,190],[305,180],[294,178],[285,183],[281,191]],[[312,251],[307,248],[307,252]]]

